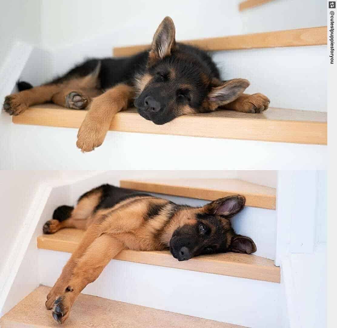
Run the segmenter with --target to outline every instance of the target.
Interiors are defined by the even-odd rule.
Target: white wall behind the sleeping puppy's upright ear
[[[150,43],[165,16],[174,20],[177,40],[240,34],[237,3],[42,1],[42,44],[57,51],[56,70],[60,73],[84,57],[111,56],[113,46]]]

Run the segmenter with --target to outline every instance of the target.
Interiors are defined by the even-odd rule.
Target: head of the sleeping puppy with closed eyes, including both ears
[[[188,113],[207,112],[225,105],[243,93],[244,79],[215,78],[209,58],[175,41],[175,26],[164,18],[153,37],[147,69],[135,77],[134,105],[141,116],[164,124]]]

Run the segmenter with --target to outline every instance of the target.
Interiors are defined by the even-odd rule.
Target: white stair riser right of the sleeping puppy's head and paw
[[[224,80],[245,78],[272,107],[327,111],[327,46],[221,51],[213,55]]]

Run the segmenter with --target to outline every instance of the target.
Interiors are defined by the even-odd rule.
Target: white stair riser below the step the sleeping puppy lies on
[[[102,146],[83,157],[76,147],[78,129],[12,124],[11,131],[16,148],[10,154],[12,160],[4,163],[3,169],[35,170],[38,166],[41,170],[53,170],[57,163],[60,170],[134,170],[135,161],[138,170],[254,170],[257,167],[260,170],[285,167],[315,170],[327,167],[327,146],[321,145],[109,131]],[[31,145],[40,150],[33,158]],[[154,149],[159,149],[158,154]],[[201,154],[202,149],[207,149],[207,154]],[[67,158],[60,161],[60,154],[67,154]],[[22,158],[30,158],[30,161]],[[143,161],[143,158],[151,158],[151,161]]]

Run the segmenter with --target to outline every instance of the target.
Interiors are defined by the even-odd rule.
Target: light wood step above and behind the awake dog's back
[[[123,188],[180,197],[216,200],[242,195],[246,206],[276,209],[276,189],[239,179],[121,180]]]

